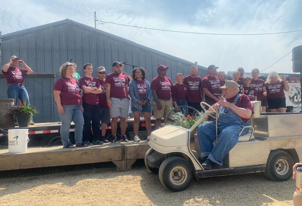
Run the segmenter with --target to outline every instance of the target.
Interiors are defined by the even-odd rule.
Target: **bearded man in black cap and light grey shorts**
[[[112,64],[113,73],[106,77],[106,100],[110,108],[111,115],[111,143],[117,142],[117,120],[120,118],[120,134],[119,141],[129,142],[126,133],[126,118],[129,113],[129,93],[128,79],[124,74],[121,74],[122,63],[115,61]]]

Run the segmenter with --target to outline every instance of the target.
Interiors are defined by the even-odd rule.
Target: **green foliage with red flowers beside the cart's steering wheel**
[[[196,115],[188,114],[186,117],[181,112],[176,112],[170,116],[171,119],[173,119],[174,121],[168,122],[167,125],[180,126],[183,128],[190,129],[196,123],[196,121],[199,120],[202,116],[203,116],[203,112],[200,112]],[[203,119],[203,121],[200,122],[200,125],[206,121],[207,119]]]

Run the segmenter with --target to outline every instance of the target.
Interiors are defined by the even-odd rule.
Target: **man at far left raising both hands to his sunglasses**
[[[25,69],[17,67],[18,64],[21,64]],[[22,104],[29,104],[29,96],[24,85],[24,75],[31,74],[33,71],[30,67],[24,63],[23,60],[20,60],[17,56],[11,56],[9,62],[2,67],[2,72],[6,77],[7,81],[7,98],[15,99],[15,105],[17,105],[18,99]],[[15,117],[15,125],[18,126],[17,118]],[[31,122],[33,125],[33,122]]]

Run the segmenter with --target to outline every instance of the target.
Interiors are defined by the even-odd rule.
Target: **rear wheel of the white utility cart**
[[[265,175],[273,181],[287,181],[292,177],[293,158],[282,150],[271,152],[265,168]]]

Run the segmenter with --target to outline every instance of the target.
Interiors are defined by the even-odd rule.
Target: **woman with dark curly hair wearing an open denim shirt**
[[[131,97],[131,111],[134,117],[133,132],[134,141],[140,142],[137,136],[140,121],[140,113],[144,115],[146,121],[146,129],[148,132],[147,140],[150,140],[151,135],[151,100],[152,90],[149,81],[146,79],[146,70],[142,67],[132,70],[133,80],[129,85],[129,95]]]

